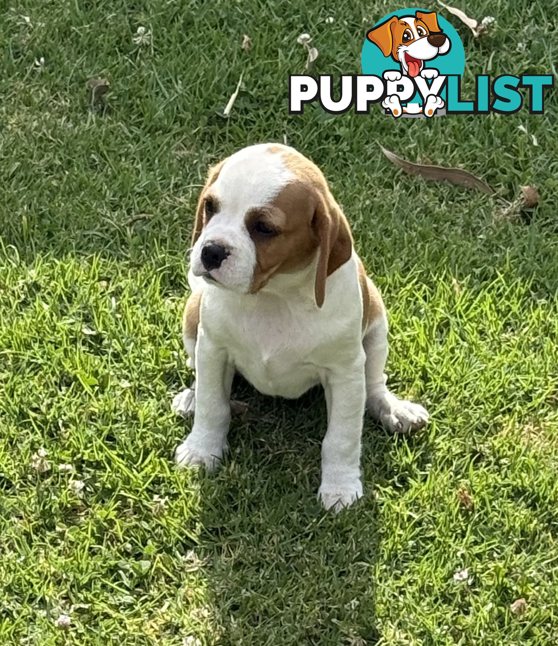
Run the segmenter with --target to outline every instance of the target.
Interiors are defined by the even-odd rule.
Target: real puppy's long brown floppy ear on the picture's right
[[[312,226],[318,238],[318,267],[314,284],[316,305],[322,307],[325,298],[325,280],[353,251],[353,236],[349,223],[331,195],[316,194],[316,209]]]

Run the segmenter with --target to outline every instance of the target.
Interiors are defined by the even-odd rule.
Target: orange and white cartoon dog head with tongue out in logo
[[[392,16],[369,30],[366,37],[378,45],[384,56],[400,63],[403,74],[408,76],[419,76],[424,61],[447,54],[451,47],[450,39],[438,25],[436,12]]]

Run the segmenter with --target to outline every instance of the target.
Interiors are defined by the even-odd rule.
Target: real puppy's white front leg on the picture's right
[[[362,495],[360,436],[366,401],[364,357],[327,379],[327,432],[322,443],[322,484],[318,497],[339,511]]]

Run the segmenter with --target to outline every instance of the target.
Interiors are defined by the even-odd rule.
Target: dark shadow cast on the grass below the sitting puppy
[[[365,496],[325,513],[316,500],[321,390],[287,401],[235,382],[233,395],[249,401],[253,419],[233,421],[222,470],[200,474],[211,643],[377,643],[374,573],[386,528],[374,485],[403,475],[389,457],[393,436],[366,420]]]

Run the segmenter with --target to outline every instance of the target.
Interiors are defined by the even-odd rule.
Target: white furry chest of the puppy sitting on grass
[[[356,262],[330,276],[322,309],[313,299],[313,284],[304,291],[289,285],[295,279],[294,274],[277,277],[274,291],[257,295],[212,285],[204,289],[203,331],[225,349],[236,371],[266,395],[300,397],[323,384],[328,371],[351,364],[362,352]]]

